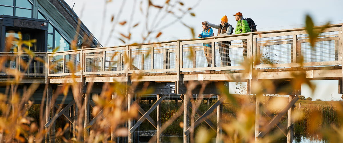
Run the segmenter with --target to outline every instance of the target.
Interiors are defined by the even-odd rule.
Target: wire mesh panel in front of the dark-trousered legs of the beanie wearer
[[[239,66],[247,57],[247,40],[220,41],[215,43],[216,67]]]

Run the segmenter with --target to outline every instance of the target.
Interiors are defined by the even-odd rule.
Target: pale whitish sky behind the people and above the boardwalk
[[[170,0],[170,4],[176,5],[171,9],[175,15],[180,16],[182,11],[192,8],[181,19],[167,14],[165,10],[152,7],[149,10],[148,22],[145,22],[147,0],[65,0],[86,27],[100,41],[104,47],[123,45],[119,38],[126,43],[147,42],[143,40],[142,35],[147,34],[147,29],[155,29],[151,33],[151,41],[166,41],[175,39],[192,38],[190,27],[194,28],[195,34],[202,31],[201,21],[219,24],[221,18],[226,15],[228,23],[236,25],[232,14],[243,13],[243,17],[250,17],[257,25],[258,31],[268,31],[277,29],[289,29],[304,27],[305,16],[309,14],[316,25],[324,25],[326,22],[331,24],[343,23],[342,0],[260,0],[260,1],[229,1],[229,0],[185,0],[181,5],[178,1]],[[166,0],[152,0],[154,5],[163,5]],[[243,5],[240,5],[243,4]],[[140,10],[140,5],[142,12]],[[122,9],[121,9],[122,8]],[[170,7],[169,7],[170,8]],[[168,10],[170,10],[168,8]],[[119,14],[120,13],[120,14]],[[190,13],[194,13],[192,16]],[[113,21],[111,17],[114,16]],[[116,25],[127,21],[125,25]],[[133,25],[138,26],[133,27]],[[186,24],[187,26],[185,26]],[[147,25],[147,26],[146,26]],[[114,30],[112,31],[112,29]],[[146,28],[147,27],[147,28]],[[235,26],[234,26],[235,27]],[[131,33],[131,39],[127,40],[120,35],[122,33],[128,36]],[[155,39],[156,35],[162,32],[161,36]],[[216,33],[216,30],[214,30]],[[302,86],[302,94],[313,99],[331,100],[331,94],[334,100],[342,100],[342,94],[338,94],[338,81],[312,81],[317,85],[315,95],[310,94],[306,86]]]

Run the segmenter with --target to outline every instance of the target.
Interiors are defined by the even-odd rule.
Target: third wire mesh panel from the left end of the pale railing
[[[103,52],[85,53],[86,72],[103,71]]]

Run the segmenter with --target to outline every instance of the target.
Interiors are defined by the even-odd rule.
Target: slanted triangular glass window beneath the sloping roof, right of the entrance
[[[38,11],[38,19],[46,19],[46,17]],[[58,49],[57,49],[58,48]],[[48,51],[67,51],[70,50],[69,42],[49,23],[48,27]]]

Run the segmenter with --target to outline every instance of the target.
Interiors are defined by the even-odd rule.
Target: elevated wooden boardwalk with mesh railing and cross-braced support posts
[[[320,28],[320,26],[316,28]],[[222,93],[218,92],[216,84],[224,84],[228,88],[227,82],[247,82],[247,94],[253,94],[251,89],[253,82],[264,79],[291,81],[296,78],[295,75],[305,71],[306,78],[309,80],[339,80],[339,92],[343,93],[341,90],[343,73],[342,40],[342,24],[333,24],[319,34],[315,48],[311,48],[305,29],[295,28],[229,36],[180,39],[159,43],[37,53],[42,60],[46,61],[46,65],[39,63],[36,59],[26,59],[30,67],[26,73],[22,73],[24,77],[21,82],[46,83],[50,85],[50,90],[52,85],[63,83],[78,82],[84,85],[98,83],[99,85],[97,84],[98,86],[91,90],[91,94],[101,93],[102,85],[107,82],[123,82],[127,84],[139,82],[138,90],[143,88],[142,82],[150,82],[149,87],[154,89],[152,93],[154,95],[147,98],[155,98],[156,103],[146,112],[140,108],[139,110],[143,116],[136,123],[129,119],[128,142],[133,142],[132,133],[145,119],[149,120],[156,128],[157,142],[161,142],[160,103],[166,98],[166,95],[173,96],[173,98],[176,98],[176,95],[181,95],[179,99],[184,100],[184,142],[188,142],[189,132],[192,130],[188,119],[188,109],[191,106],[189,103],[191,97],[189,93],[186,94],[186,84],[188,82],[197,81],[199,85],[203,82],[207,84],[204,92],[201,91],[201,87],[197,86],[190,94],[218,95],[211,96],[211,98],[217,98],[218,101],[208,111],[204,113],[196,111],[200,118],[194,122],[194,127],[205,121],[217,132],[217,136],[220,136],[221,126],[215,127],[206,118],[217,108],[217,121],[221,120],[222,103],[225,96],[220,96]],[[208,45],[211,45],[211,47],[205,47]],[[222,45],[226,45],[229,49],[222,51]],[[208,49],[207,52],[210,53],[210,56],[205,56],[204,50],[206,49]],[[223,58],[223,52],[228,52],[227,55],[230,61]],[[13,56],[13,53],[1,54]],[[25,56],[29,58],[27,55],[21,55],[12,57],[12,59],[15,61],[24,60]],[[18,62],[13,63],[10,60],[6,64],[7,66],[13,66],[14,64],[14,69],[21,70]],[[52,68],[46,68],[47,65]],[[0,75],[0,81],[9,82],[14,74],[2,72]],[[134,91],[123,92],[128,93],[128,108],[130,109]],[[256,139],[268,133],[287,111],[289,113],[293,111],[294,103],[298,99],[296,95],[301,94],[301,87],[292,89],[288,94],[290,95],[288,105],[277,116],[272,118],[267,127],[260,130],[260,127],[256,126]],[[47,110],[50,110],[51,97],[49,98],[49,96],[51,96],[51,93],[47,95]],[[95,106],[90,100],[90,96],[85,95],[84,97],[84,103],[86,104],[85,128],[90,127],[96,121],[96,118],[92,121],[89,119],[89,106]],[[70,98],[68,104],[64,109],[61,109],[58,116],[64,115],[69,108],[72,108],[74,103],[73,98]],[[149,114],[155,108],[157,109],[156,122],[149,117]],[[260,101],[256,99],[256,115],[261,114],[259,111]],[[76,111],[73,110],[73,112],[74,115],[77,115],[77,109]],[[268,111],[264,112],[268,113]],[[77,117],[70,117],[68,114],[64,116],[68,116],[67,118],[71,123],[75,123],[75,118],[77,119]],[[47,116],[46,127],[54,122],[54,118],[51,118],[50,115]],[[288,114],[288,130],[283,130],[283,133],[287,136],[287,142],[293,140],[291,118],[291,114]],[[258,124],[258,119],[256,121]],[[74,127],[76,127],[75,124]],[[217,142],[220,142],[219,138]]]

